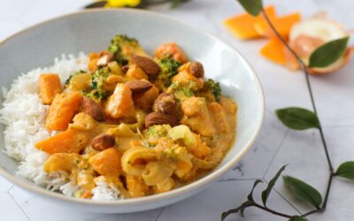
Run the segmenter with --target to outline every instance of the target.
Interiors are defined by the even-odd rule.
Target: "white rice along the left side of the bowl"
[[[38,95],[38,78],[41,73],[58,73],[62,84],[74,72],[88,71],[89,57],[80,53],[54,59],[54,65],[37,68],[23,73],[13,81],[11,88],[2,88],[4,103],[0,110],[0,122],[4,130],[4,153],[19,162],[17,174],[36,185],[52,191],[59,190],[65,195],[73,196],[78,187],[64,179],[61,173],[49,176],[43,171],[43,164],[49,157],[47,153],[35,149],[35,143],[54,135],[45,127],[45,116],[49,108],[43,105]],[[51,174],[52,175],[52,174]],[[118,200],[119,192],[100,180],[93,190],[94,200]]]

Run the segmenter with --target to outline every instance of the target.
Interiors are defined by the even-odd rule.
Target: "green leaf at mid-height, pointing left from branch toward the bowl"
[[[294,130],[319,128],[319,118],[311,110],[289,107],[275,110],[275,114],[285,126]]]

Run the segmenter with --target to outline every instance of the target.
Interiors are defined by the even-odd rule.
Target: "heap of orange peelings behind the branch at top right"
[[[273,5],[266,7],[265,10],[273,26],[306,65],[308,65],[312,52],[319,46],[350,35],[350,32],[346,32],[341,24],[327,20],[325,12],[319,12],[310,19],[302,20],[299,13],[278,17]],[[261,37],[269,39],[259,51],[262,57],[266,57],[276,64],[285,65],[290,70],[300,68],[296,57],[286,49],[273,33],[262,14],[257,17],[252,17],[246,13],[234,16],[226,19],[224,25],[237,38],[242,40]],[[324,68],[311,68],[309,71],[312,74],[335,72],[347,64],[350,54],[353,52],[354,47],[349,47],[334,64]]]

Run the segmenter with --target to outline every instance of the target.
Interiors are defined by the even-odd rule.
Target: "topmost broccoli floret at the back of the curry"
[[[139,42],[135,38],[128,37],[125,34],[117,34],[111,40],[108,48],[114,54],[114,59],[119,65],[127,65],[130,53],[135,50],[142,50]]]

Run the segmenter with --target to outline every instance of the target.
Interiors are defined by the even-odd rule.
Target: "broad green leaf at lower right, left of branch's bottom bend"
[[[304,183],[300,179],[296,179],[290,176],[283,176],[286,187],[289,188],[291,194],[294,194],[297,198],[311,203],[315,208],[319,208],[322,202],[322,196],[317,189]]]

